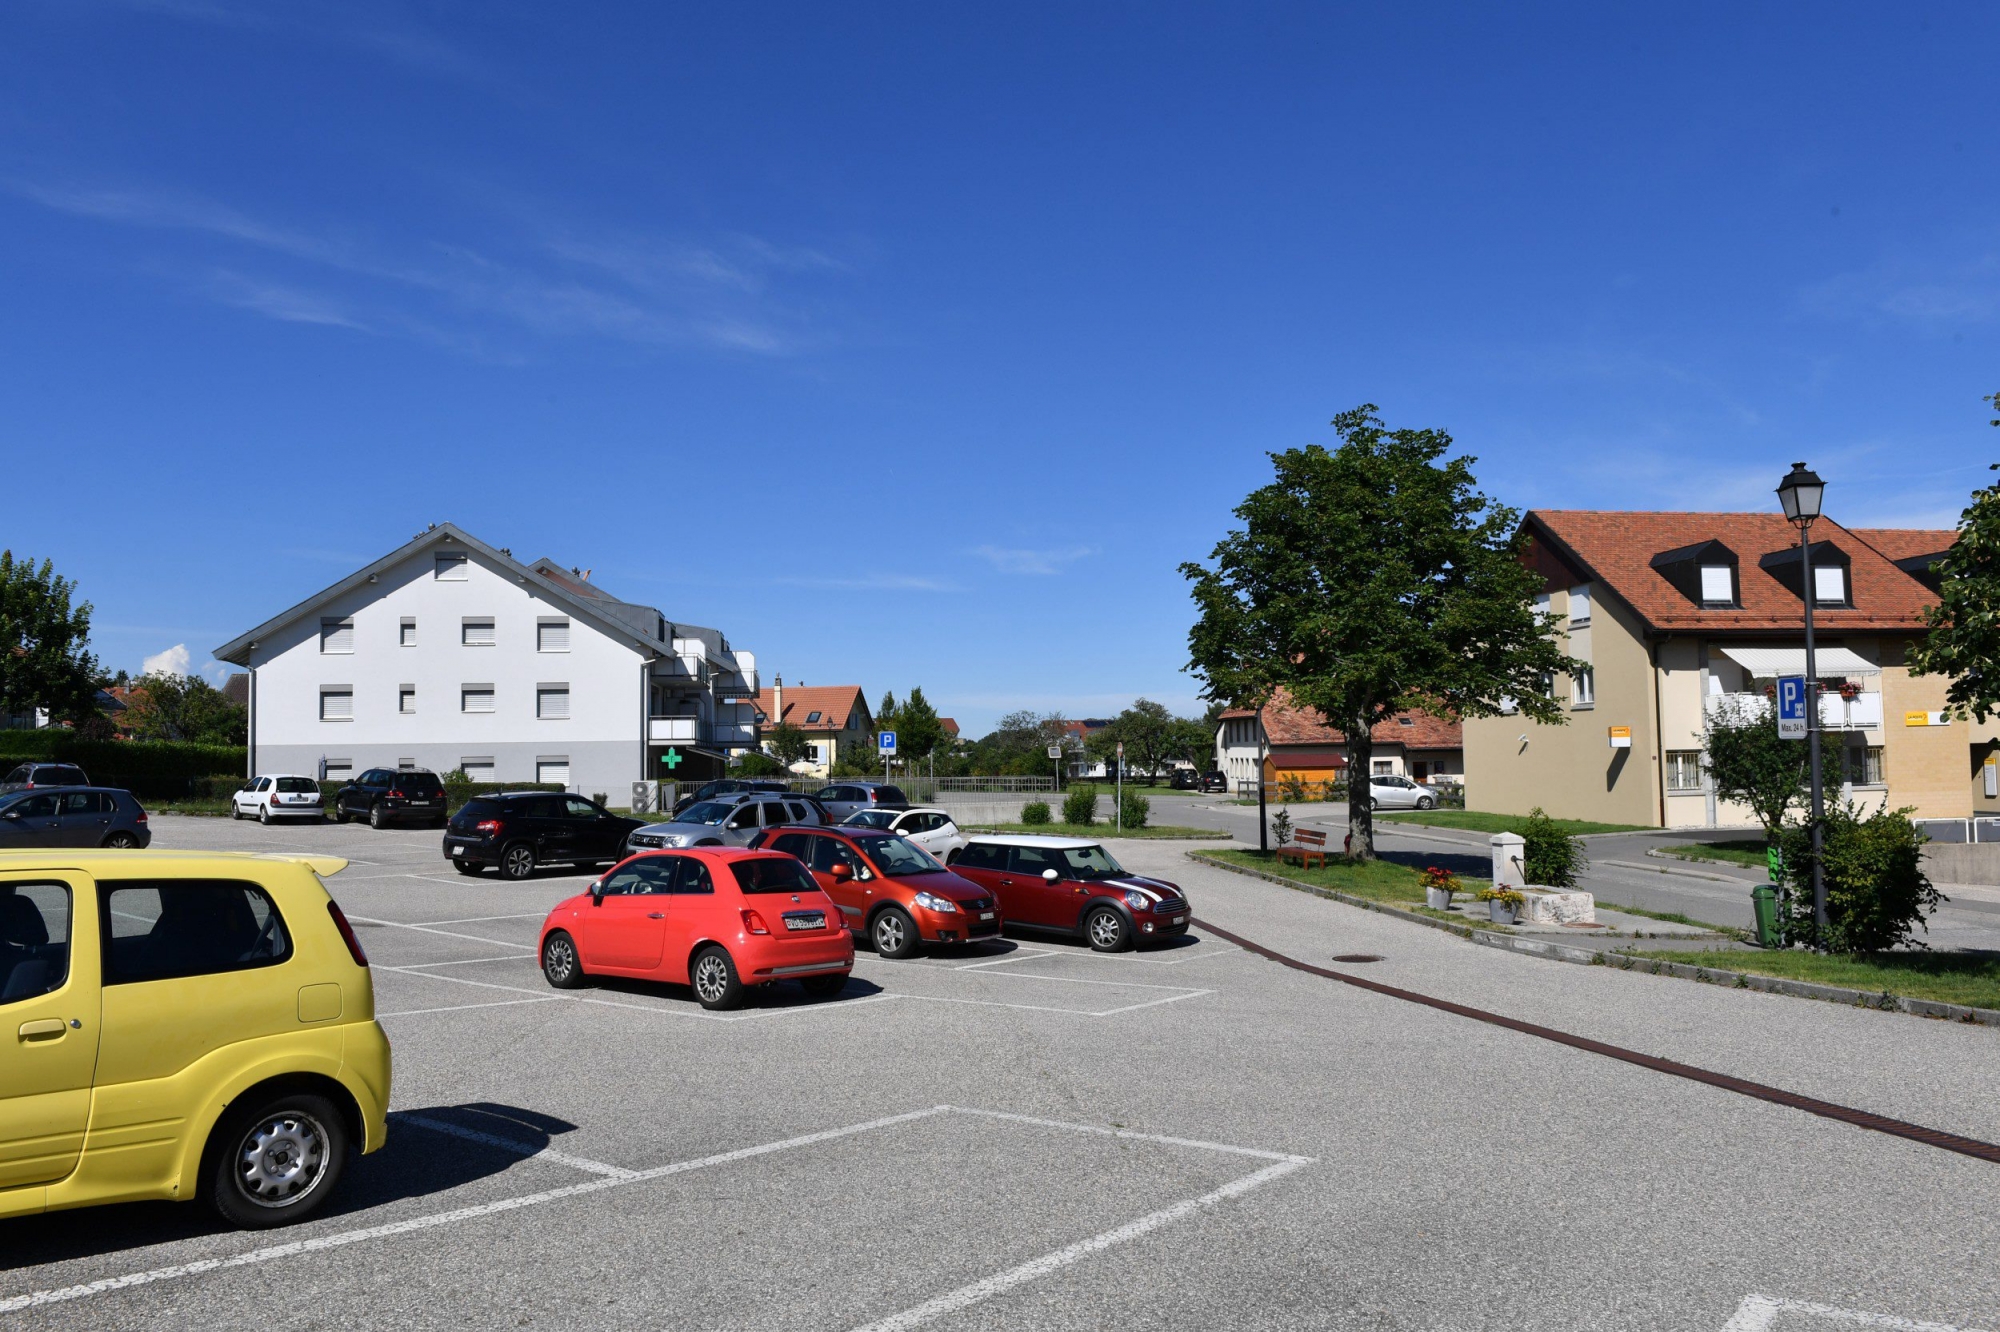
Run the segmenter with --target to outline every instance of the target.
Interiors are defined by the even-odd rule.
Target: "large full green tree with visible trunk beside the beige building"
[[[1550,674],[1584,664],[1536,614],[1518,512],[1474,488],[1442,430],[1388,430],[1372,404],[1334,418],[1338,448],[1272,454],[1276,480],[1236,506],[1242,528],[1182,564],[1198,618],[1188,668],[1202,696],[1260,708],[1284,688],[1346,732],[1370,770],[1372,728],[1396,712],[1494,716],[1512,704],[1560,726]],[[1368,784],[1348,788],[1350,854],[1374,858]]]

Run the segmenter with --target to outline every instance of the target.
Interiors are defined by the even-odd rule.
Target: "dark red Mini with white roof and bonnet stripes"
[[[1126,874],[1096,842],[978,836],[952,868],[1000,898],[1010,926],[1078,934],[1098,952],[1188,932],[1188,896],[1160,878]]]

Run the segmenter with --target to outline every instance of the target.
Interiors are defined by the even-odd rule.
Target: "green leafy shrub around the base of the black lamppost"
[[[1786,882],[1786,940],[1812,938],[1812,836],[1804,826],[1778,832]],[[1870,818],[1848,804],[1826,810],[1826,952],[1924,948],[1914,938],[1946,900],[1924,876],[1924,834],[1910,810]]]

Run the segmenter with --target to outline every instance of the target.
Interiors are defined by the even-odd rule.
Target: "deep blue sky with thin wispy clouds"
[[[1200,558],[1378,402],[1516,506],[1944,524],[1992,6],[18,0],[4,544],[138,668],[454,520],[766,676],[1194,710]]]

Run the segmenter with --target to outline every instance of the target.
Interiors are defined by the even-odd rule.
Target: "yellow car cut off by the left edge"
[[[208,1198],[300,1220],[388,1132],[334,856],[0,852],[0,1218]]]

